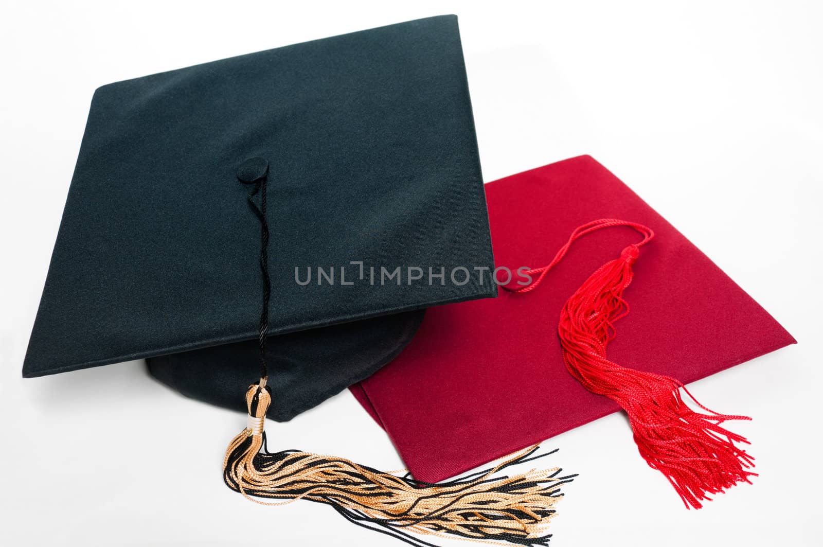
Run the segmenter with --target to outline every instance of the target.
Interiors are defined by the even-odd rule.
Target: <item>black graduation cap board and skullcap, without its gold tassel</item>
[[[425,307],[495,295],[407,282],[493,268],[457,18],[431,17],[95,91],[23,375],[149,358],[184,394],[245,408],[262,292],[250,158],[268,166],[272,418],[369,376]],[[402,283],[370,283],[371,267]]]

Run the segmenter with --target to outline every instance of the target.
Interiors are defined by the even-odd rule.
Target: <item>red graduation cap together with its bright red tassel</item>
[[[688,411],[677,381],[696,381],[793,344],[792,336],[591,157],[491,182],[486,201],[498,268],[515,278],[521,266],[550,264],[551,271],[532,271],[531,283],[523,278],[518,285],[518,279],[493,300],[430,310],[398,358],[351,388],[412,475],[427,481],[457,475],[628,406],[641,452],[688,505],[700,507],[704,494],[746,480],[751,456],[736,447],[742,437],[719,425],[742,417],[704,408],[678,415]],[[597,218],[629,222],[587,224]],[[615,225],[622,227],[599,229]],[[573,243],[564,245],[570,233]],[[639,258],[634,245],[642,245]],[[624,248],[621,259],[602,265]],[[632,269],[635,284],[624,300]],[[601,288],[591,291],[597,283]],[[630,316],[615,323],[628,306]],[[653,397],[663,400],[642,404]],[[640,401],[636,408],[632,400]],[[655,415],[660,408],[672,414]],[[695,423],[706,431],[689,429]],[[705,435],[704,445],[719,443],[716,452],[728,461],[700,469],[712,451],[688,446],[693,452],[684,455],[672,448],[671,432],[644,432],[661,424],[682,426],[681,438]],[[671,451],[650,454],[649,444]],[[680,467],[672,471],[672,465]]]

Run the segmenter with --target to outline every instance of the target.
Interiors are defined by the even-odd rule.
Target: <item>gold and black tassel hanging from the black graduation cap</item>
[[[539,457],[537,446],[466,477],[447,483],[421,483],[352,461],[309,452],[268,452],[263,421],[271,403],[263,378],[249,386],[249,427],[232,439],[223,461],[226,484],[246,498],[282,505],[305,498],[334,507],[347,520],[412,545],[432,545],[406,532],[467,540],[504,540],[547,545],[546,525],[555,514],[560,469],[530,470],[512,476],[496,472]],[[260,449],[264,451],[261,452]],[[529,457],[531,456],[531,457]],[[285,498],[266,503],[254,498]]]

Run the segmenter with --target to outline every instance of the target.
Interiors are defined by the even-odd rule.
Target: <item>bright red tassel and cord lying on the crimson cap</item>
[[[589,222],[572,232],[551,264],[532,269],[539,274],[527,287],[512,292],[532,291],[546,272],[563,258],[574,240],[604,227],[634,228],[643,241],[629,245],[619,259],[603,264],[574,292],[560,311],[560,344],[566,369],[592,393],[615,400],[629,416],[640,455],[659,470],[680,494],[686,507],[703,507],[700,500],[721,493],[739,482],[751,483],[749,471],[754,458],[736,443],[746,438],[721,426],[727,420],[748,420],[746,416],[718,414],[697,402],[680,381],[669,376],[621,367],[606,357],[608,343],[615,337],[614,323],[629,313],[623,292],[633,278],[631,266],[639,248],[649,243],[654,232],[634,222],[604,218]],[[699,407],[690,409],[681,395]]]

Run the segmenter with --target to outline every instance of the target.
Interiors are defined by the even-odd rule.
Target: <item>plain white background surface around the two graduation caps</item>
[[[621,415],[546,442],[580,474],[552,545],[821,545],[821,2],[70,3],[0,8],[0,545],[402,545],[328,507],[230,493],[221,460],[244,416],[143,362],[30,380],[21,363],[96,86],[449,12],[486,180],[592,154],[800,342],[693,386],[754,418],[734,428],[761,474],[700,511]],[[347,392],[267,430],[402,467]]]

